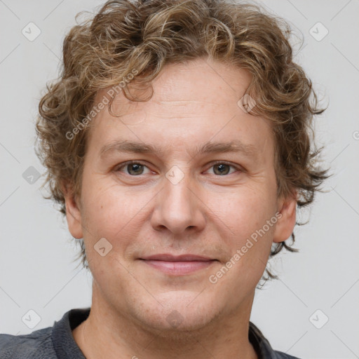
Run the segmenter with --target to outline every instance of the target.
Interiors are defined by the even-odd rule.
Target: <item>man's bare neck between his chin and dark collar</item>
[[[199,330],[179,331],[148,327],[118,313],[93,292],[90,315],[73,335],[87,359],[257,359],[248,339],[253,297],[236,313],[218,316]]]

